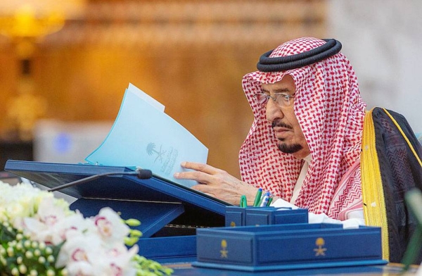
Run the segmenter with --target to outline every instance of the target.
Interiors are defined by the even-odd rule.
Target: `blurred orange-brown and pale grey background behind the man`
[[[241,79],[304,36],[342,42],[369,108],[421,132],[421,12],[417,0],[1,0],[0,170],[83,162],[132,82],[208,147],[210,165],[239,177],[253,119]]]

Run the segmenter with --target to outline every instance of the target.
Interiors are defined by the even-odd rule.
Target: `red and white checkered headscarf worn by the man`
[[[270,58],[299,54],[324,43],[311,37],[294,39],[274,49]],[[357,169],[333,202],[343,175],[359,159],[366,108],[352,65],[341,52],[302,68],[257,71],[243,77],[243,90],[255,120],[239,153],[242,179],[290,201],[303,161],[279,151],[265,108],[254,96],[262,83],[278,82],[287,74],[295,80],[294,111],[312,154],[295,205],[338,218],[341,211],[362,198]]]

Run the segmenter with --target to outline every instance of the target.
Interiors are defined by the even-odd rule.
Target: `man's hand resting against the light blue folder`
[[[253,204],[257,188],[238,180],[226,171],[202,163],[183,162],[181,166],[193,171],[176,172],[174,178],[196,180],[199,184],[192,189],[234,205],[238,205],[241,196],[245,195],[248,205]]]

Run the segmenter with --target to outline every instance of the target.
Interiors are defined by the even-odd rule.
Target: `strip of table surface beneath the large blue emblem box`
[[[242,275],[262,275],[262,276],[275,276],[275,275],[371,275],[371,276],[391,276],[391,275],[416,275],[418,272],[417,266],[411,266],[409,270],[403,273],[402,265],[389,263],[388,265],[362,265],[350,266],[339,268],[314,268],[314,269],[297,269],[297,270],[275,270],[267,272],[245,272],[236,270],[221,270],[214,268],[196,268],[187,263],[163,263],[169,268],[174,270],[173,276],[242,276]]]

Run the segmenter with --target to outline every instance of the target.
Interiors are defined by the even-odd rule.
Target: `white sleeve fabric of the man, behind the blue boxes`
[[[293,205],[292,203],[285,201],[283,199],[277,199],[273,203],[271,203],[271,206],[274,206],[276,208],[281,207],[288,207],[292,209],[297,209],[298,206]],[[314,214],[314,213],[308,213],[308,220],[309,223],[336,223],[336,224],[342,224],[343,228],[358,228],[359,225],[365,225],[364,220],[364,211],[362,210],[356,210],[351,211],[347,213],[347,220],[335,220],[333,218],[329,218],[328,215],[321,213],[321,214]]]

